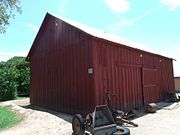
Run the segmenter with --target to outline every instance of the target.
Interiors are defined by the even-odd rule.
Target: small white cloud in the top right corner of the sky
[[[180,0],[161,0],[160,2],[167,6],[169,11],[174,11],[180,7]]]

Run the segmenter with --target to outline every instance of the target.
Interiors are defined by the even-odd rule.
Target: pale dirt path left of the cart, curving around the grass
[[[25,114],[25,120],[15,127],[0,132],[1,135],[71,135],[71,119],[67,114],[29,106],[29,99],[0,103],[13,105],[13,109]],[[18,105],[18,106],[17,106]]]

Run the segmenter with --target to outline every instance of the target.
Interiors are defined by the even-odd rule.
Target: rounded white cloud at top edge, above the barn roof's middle
[[[117,13],[124,13],[130,9],[129,0],[105,0],[108,7]]]

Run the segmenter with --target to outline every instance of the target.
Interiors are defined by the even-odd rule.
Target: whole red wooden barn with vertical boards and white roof
[[[172,59],[136,45],[47,13],[27,57],[31,104],[73,114],[106,104],[107,91],[123,110],[164,100]]]

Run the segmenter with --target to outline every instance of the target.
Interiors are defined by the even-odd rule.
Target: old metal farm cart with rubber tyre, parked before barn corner
[[[117,126],[107,105],[96,106],[86,119],[76,114],[72,120],[74,135],[130,135],[130,130]]]

